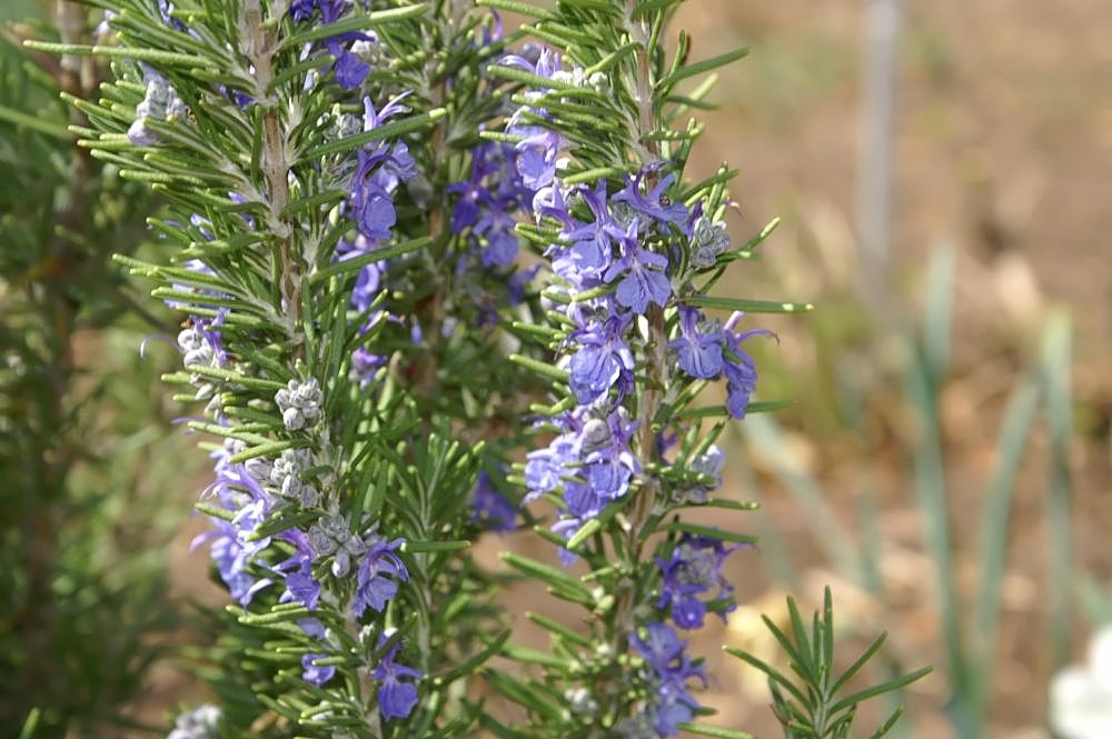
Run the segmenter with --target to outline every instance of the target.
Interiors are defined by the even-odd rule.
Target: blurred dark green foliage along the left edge
[[[102,736],[173,623],[165,468],[146,458],[166,431],[157,367],[108,260],[155,206],[67,131],[59,93],[96,89],[103,67],[13,46],[49,26],[0,32],[0,730],[30,717],[34,736]]]

